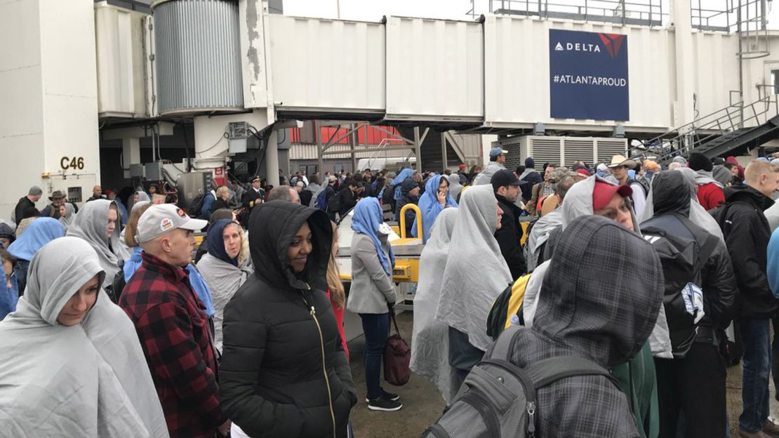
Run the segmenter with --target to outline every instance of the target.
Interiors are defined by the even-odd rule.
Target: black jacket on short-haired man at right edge
[[[774,201],[749,185],[724,189],[719,219],[738,284],[737,308],[742,318],[770,318],[779,308],[768,286],[766,263],[771,231],[763,211]],[[717,211],[717,210],[713,210]]]

